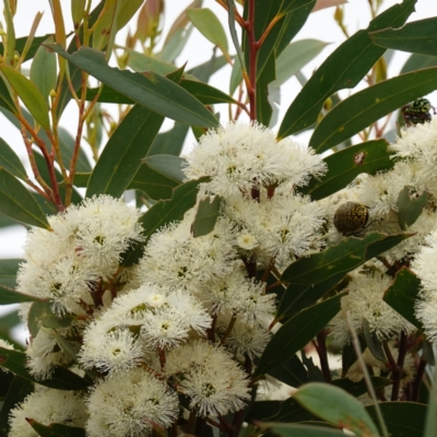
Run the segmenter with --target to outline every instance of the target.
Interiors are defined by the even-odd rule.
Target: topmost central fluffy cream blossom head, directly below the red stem
[[[312,150],[290,138],[276,142],[274,133],[256,122],[229,123],[210,130],[194,146],[184,169],[189,179],[210,176],[209,189],[221,196],[249,192],[252,187],[305,185],[321,176],[324,164]]]

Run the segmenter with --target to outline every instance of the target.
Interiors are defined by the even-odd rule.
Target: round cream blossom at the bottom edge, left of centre
[[[143,437],[154,425],[167,428],[178,414],[178,398],[142,368],[98,381],[87,399],[90,437]]]

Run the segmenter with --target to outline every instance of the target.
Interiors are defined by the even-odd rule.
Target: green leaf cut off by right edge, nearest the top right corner
[[[370,32],[377,46],[414,54],[437,56],[437,17],[414,21],[401,28]]]

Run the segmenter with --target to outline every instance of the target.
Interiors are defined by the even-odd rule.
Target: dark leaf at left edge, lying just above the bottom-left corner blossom
[[[63,367],[56,367],[50,379],[36,380],[28,373],[26,362],[27,357],[24,352],[0,347],[1,366],[28,381],[58,390],[84,390],[90,386],[88,381]]]

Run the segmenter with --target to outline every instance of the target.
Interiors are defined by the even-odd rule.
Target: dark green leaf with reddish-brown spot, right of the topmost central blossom
[[[321,179],[312,178],[300,189],[312,200],[323,199],[347,186],[362,173],[375,175],[394,166],[386,140],[374,140],[353,145],[327,156],[328,172]]]

